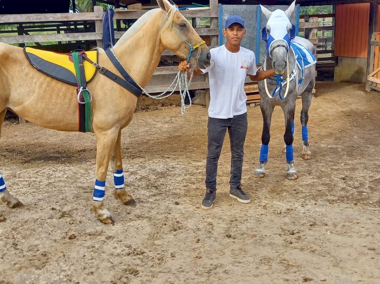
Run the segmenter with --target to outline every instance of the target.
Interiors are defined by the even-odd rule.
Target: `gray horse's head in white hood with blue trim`
[[[269,56],[272,58],[272,68],[276,74],[284,74],[286,70],[286,56],[290,49],[290,39],[294,37],[295,28],[290,22],[290,16],[295,8],[295,1],[286,11],[269,11],[261,6],[261,11],[267,17],[267,26],[262,28],[262,39],[267,42]]]

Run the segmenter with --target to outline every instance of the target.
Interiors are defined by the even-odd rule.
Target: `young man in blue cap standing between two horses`
[[[216,198],[218,160],[226,130],[229,131],[231,143],[230,197],[242,203],[251,202],[241,188],[243,148],[248,126],[244,82],[247,75],[251,80],[259,81],[269,78],[274,71],[257,71],[255,54],[240,46],[246,32],[241,17],[227,18],[223,30],[226,43],[210,50],[209,67],[203,70],[194,67],[193,77],[208,72],[210,81],[206,194],[202,201],[202,208],[206,210],[212,208]],[[178,65],[178,69],[182,71],[189,68],[186,61]]]

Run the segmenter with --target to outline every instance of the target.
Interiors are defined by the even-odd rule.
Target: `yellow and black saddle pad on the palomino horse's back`
[[[79,53],[85,54],[94,63],[98,63],[98,51],[81,51]],[[24,54],[29,63],[40,72],[62,82],[78,86],[77,75],[70,53],[56,53],[25,47]],[[86,82],[90,82],[95,77],[96,67],[87,61],[84,61],[83,64]]]

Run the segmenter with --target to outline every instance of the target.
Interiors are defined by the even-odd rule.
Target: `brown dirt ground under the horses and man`
[[[303,161],[297,100],[294,165],[287,180],[284,117],[275,109],[267,176],[255,179],[258,106],[248,107],[243,188],[229,198],[226,136],[217,200],[202,210],[207,112],[180,115],[178,98],[149,104],[124,129],[126,185],[112,197],[114,225],[90,213],[95,136],[5,121],[0,170],[24,207],[0,212],[0,283],[380,283],[380,93],[317,82],[309,118],[313,159]],[[178,96],[177,96],[178,97]]]

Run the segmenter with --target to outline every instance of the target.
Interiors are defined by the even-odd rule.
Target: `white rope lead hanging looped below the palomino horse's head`
[[[179,94],[181,96],[181,115],[184,115],[185,109],[188,109],[189,107],[192,106],[192,98],[190,97],[190,93],[188,92],[188,87],[190,86],[190,83],[192,81],[193,72],[194,72],[194,67],[193,67],[193,65],[191,65],[190,78],[187,80],[187,70],[186,71],[178,71],[177,75],[175,76],[173,82],[169,85],[169,87],[165,91],[163,91],[162,93],[157,94],[157,95],[151,95],[140,85],[139,85],[139,87],[141,88],[142,92],[144,94],[146,94],[146,96],[148,96],[149,98],[161,100],[161,99],[165,99],[165,98],[171,96],[178,86]],[[171,92],[169,94],[166,94],[172,88],[174,83],[175,83],[175,86],[173,87]],[[185,105],[186,95],[187,95],[188,100],[190,102],[190,104],[187,107]]]

